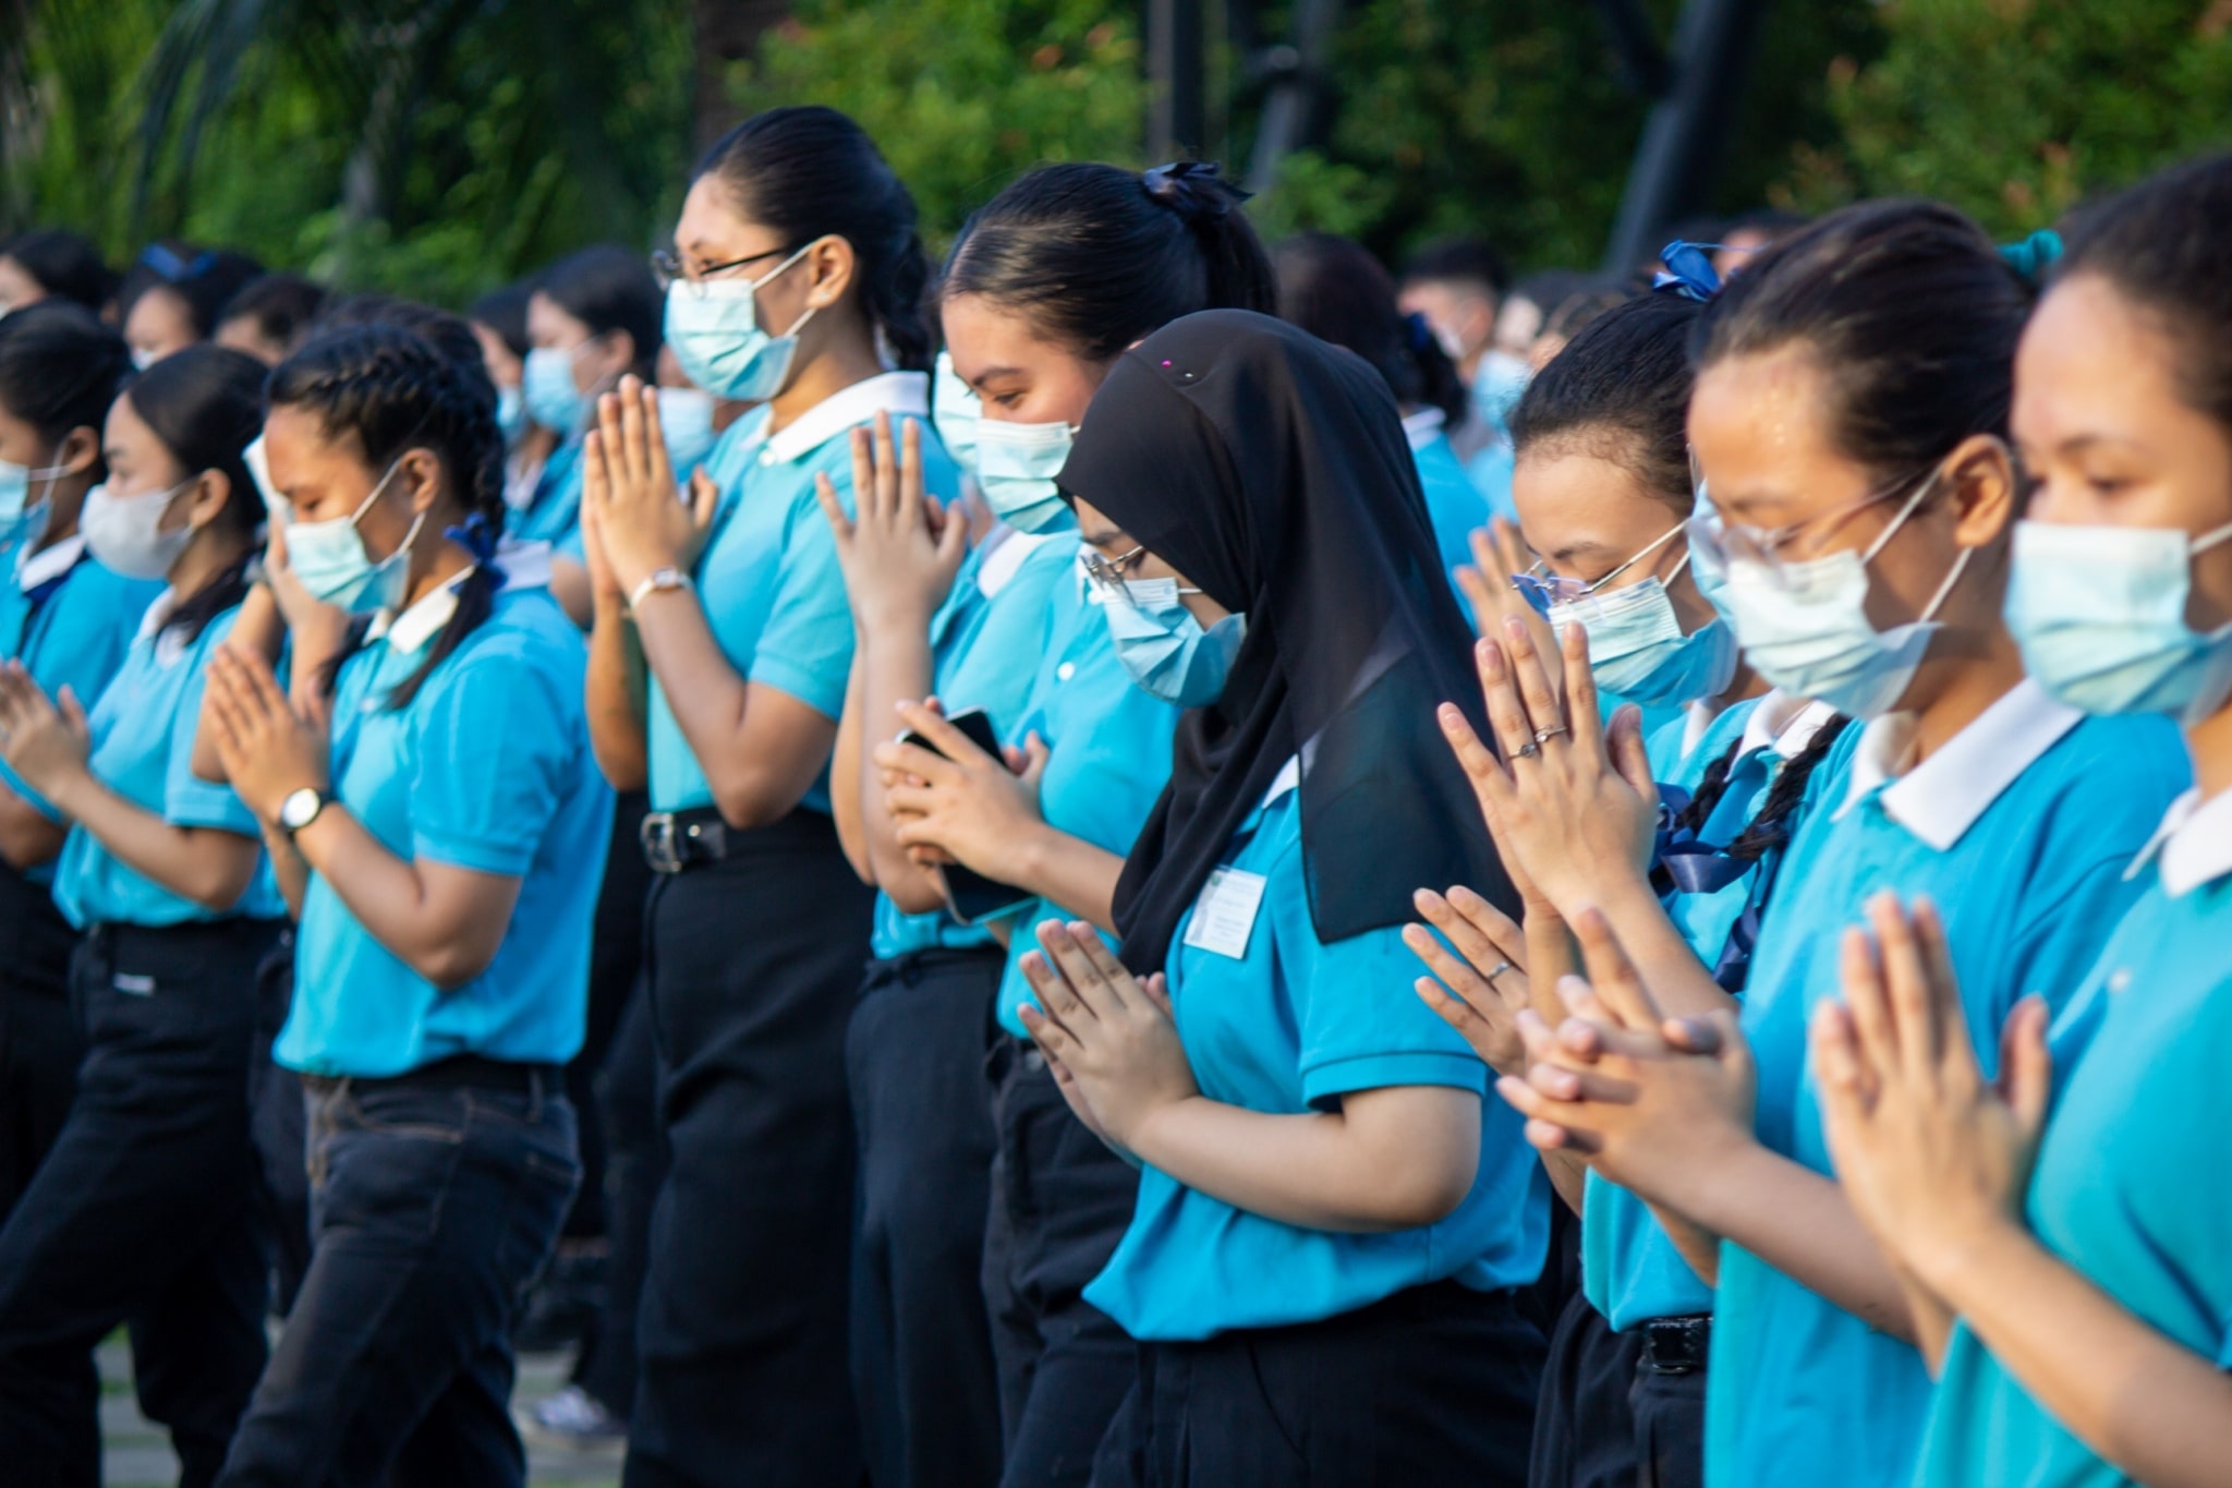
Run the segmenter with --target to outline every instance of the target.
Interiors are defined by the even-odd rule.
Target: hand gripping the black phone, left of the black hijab
[[[987,879],[1013,883],[1020,850],[1047,823],[1038,810],[1047,745],[1033,734],[1020,759],[998,761],[922,703],[902,703],[899,718],[942,752],[906,743],[875,747],[877,767],[899,776],[884,792],[899,846],[942,848]]]

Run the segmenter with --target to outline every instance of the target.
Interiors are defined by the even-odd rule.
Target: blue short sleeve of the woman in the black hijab
[[[1350,1091],[1391,1084],[1487,1093],[1487,1066],[1411,991],[1420,964],[1397,926],[1319,941],[1303,904],[1299,850],[1281,861],[1272,892],[1281,899],[1279,973],[1301,1020],[1303,1100],[1333,1107]]]

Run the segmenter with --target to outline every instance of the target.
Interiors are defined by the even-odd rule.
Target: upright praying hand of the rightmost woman
[[[1969,1040],[1935,906],[1868,906],[1846,930],[1844,1004],[1812,1020],[1815,1078],[1837,1180],[1886,1252],[1937,1285],[1975,1245],[2022,1225],[2053,1089],[2047,1006],[2029,997],[2002,1033],[2000,1082]]]

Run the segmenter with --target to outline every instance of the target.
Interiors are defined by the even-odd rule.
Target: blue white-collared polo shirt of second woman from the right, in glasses
[[[1893,779],[1911,718],[1846,729],[1835,808],[1815,810],[1752,957],[1743,1028],[1759,1071],[1757,1133],[1830,1173],[1806,1066],[1806,1024],[1837,995],[1841,935],[1873,895],[1928,895],[1946,924],[1978,1053],[2029,993],[2056,1008],[2138,892],[2125,866],[2187,781],[2163,718],[2080,718],[2020,683],[1922,765]],[[1888,1488],[1915,1468],[1931,1379],[1922,1354],[1870,1330],[1741,1245],[1721,1245],[1705,1477],[1712,1488]]]

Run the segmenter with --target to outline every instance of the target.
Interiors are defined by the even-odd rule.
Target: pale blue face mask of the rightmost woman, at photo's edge
[[[2087,714],[2172,714],[2194,725],[2232,696],[2232,625],[2185,622],[2192,564],[2232,526],[2015,524],[2007,625],[2024,669]]]

